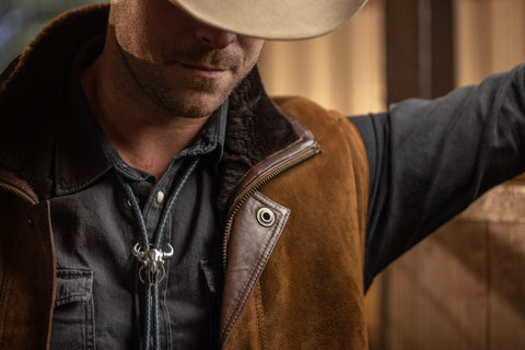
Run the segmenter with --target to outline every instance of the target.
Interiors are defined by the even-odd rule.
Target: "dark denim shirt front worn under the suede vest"
[[[120,159],[91,115],[80,71],[100,54],[102,39],[86,45],[74,59],[71,113],[56,147],[50,210],[57,298],[50,348],[138,347],[141,282],[131,249],[139,229],[116,174],[130,184],[152,233],[185,160],[198,156],[199,165],[175,202],[165,232],[175,254],[161,283],[161,341],[162,349],[212,349],[218,343],[222,291],[214,174],[224,144],[228,102],[156,182]]]

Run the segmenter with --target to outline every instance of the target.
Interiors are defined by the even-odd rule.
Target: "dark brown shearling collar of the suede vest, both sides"
[[[68,113],[69,68],[86,40],[105,33],[108,10],[91,5],[57,18],[0,79],[0,167],[27,180],[40,200],[54,195],[52,151]],[[218,208],[225,209],[249,168],[298,139],[254,69],[230,96]]]

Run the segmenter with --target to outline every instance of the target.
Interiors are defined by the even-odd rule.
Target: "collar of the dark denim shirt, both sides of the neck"
[[[120,156],[96,124],[81,84],[82,69],[100,55],[103,45],[103,35],[89,42],[77,54],[70,69],[69,115],[61,122],[55,153],[55,194],[57,196],[72,194],[88,187],[110,168],[124,171],[124,175],[145,176],[143,172],[142,174],[130,173],[130,168],[124,165]],[[196,141],[173,161],[183,156],[209,154],[217,170],[224,149],[228,110],[229,101],[226,100],[210,117]]]

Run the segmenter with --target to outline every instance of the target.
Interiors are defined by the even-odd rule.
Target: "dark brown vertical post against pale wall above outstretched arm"
[[[387,101],[432,98],[454,88],[452,0],[386,2]]]

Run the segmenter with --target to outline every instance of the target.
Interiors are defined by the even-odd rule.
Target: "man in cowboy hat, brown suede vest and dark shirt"
[[[524,170],[523,68],[347,119],[260,38],[364,1],[114,0],[2,74],[1,349],[366,349],[363,291]]]

